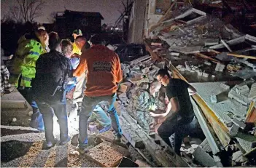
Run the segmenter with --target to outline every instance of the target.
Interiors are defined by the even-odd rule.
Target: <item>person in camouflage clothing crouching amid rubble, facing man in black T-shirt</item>
[[[131,95],[128,112],[147,133],[150,133],[150,129],[152,129],[154,124],[154,119],[150,116],[150,110],[155,111],[157,108],[155,100],[158,99],[156,95],[160,88],[160,82],[154,81],[150,84],[149,90],[137,87]]]

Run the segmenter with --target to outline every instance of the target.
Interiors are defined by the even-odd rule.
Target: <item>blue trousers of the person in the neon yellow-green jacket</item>
[[[33,126],[37,129],[42,129],[44,127],[44,121],[42,119],[42,114],[39,111],[38,106],[36,105],[36,102],[33,98],[32,88],[31,87],[25,87],[23,89],[18,88],[18,91],[21,95],[28,101],[28,103],[31,105],[33,109],[33,115],[31,116],[31,124],[33,123]]]

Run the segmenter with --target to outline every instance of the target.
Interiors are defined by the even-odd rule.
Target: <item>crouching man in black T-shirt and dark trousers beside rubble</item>
[[[190,129],[195,126],[195,114],[190,95],[196,90],[181,79],[172,79],[166,69],[160,69],[157,73],[158,81],[166,87],[168,105],[166,113],[150,113],[152,117],[164,119],[158,128],[158,135],[171,147],[169,137],[175,133],[174,151],[180,155],[180,147],[183,138],[188,135]]]

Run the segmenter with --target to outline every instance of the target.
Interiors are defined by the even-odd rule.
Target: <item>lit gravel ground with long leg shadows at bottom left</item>
[[[75,151],[76,131],[71,131],[74,145],[55,145],[45,149],[44,133],[30,127],[1,126],[1,167],[99,167]],[[55,132],[59,140],[59,133]],[[97,145],[90,135],[89,143]]]

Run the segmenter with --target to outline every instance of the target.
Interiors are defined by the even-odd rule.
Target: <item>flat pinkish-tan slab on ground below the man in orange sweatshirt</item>
[[[85,157],[96,161],[102,167],[116,167],[123,156],[130,156],[130,152],[126,148],[109,142],[100,143],[85,153]]]

